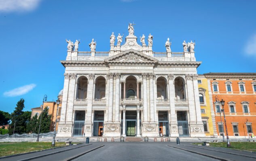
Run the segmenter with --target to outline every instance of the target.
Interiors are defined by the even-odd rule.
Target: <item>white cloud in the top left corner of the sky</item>
[[[34,10],[41,0],[0,0],[0,12]]]

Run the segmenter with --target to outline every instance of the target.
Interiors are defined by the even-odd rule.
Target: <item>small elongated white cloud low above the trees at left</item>
[[[36,87],[35,84],[24,85],[24,86],[15,88],[11,91],[4,92],[4,96],[15,97],[15,96],[24,95],[24,94],[28,93],[29,91],[31,91],[35,87]]]

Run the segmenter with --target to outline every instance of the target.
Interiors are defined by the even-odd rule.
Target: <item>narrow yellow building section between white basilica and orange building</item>
[[[209,137],[218,136],[215,124],[214,106],[212,103],[212,91],[210,83],[204,75],[198,75],[199,100],[201,105],[201,116],[205,135]]]

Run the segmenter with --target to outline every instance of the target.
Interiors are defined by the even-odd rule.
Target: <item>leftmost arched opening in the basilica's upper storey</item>
[[[87,98],[87,85],[88,79],[85,76],[80,76],[77,83],[77,99],[86,99]]]

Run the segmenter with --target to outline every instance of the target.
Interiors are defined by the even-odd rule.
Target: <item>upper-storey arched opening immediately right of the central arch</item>
[[[164,77],[157,78],[157,99],[168,99],[166,83],[167,81]]]

